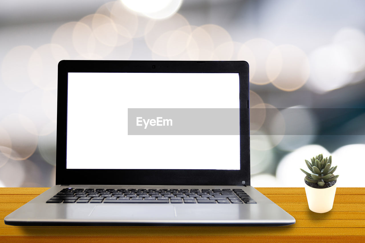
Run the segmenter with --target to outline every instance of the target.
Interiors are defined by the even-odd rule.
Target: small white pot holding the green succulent
[[[328,188],[312,188],[305,184],[306,195],[308,200],[308,206],[311,211],[315,213],[326,213],[333,207],[333,201],[335,199],[337,181]]]

